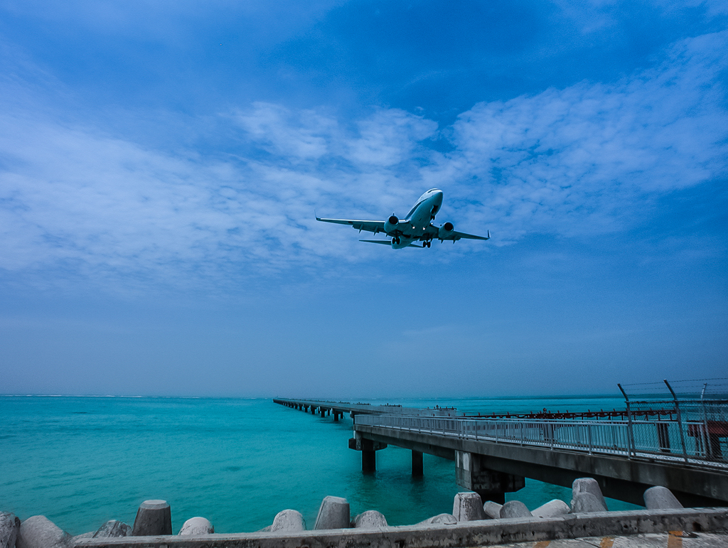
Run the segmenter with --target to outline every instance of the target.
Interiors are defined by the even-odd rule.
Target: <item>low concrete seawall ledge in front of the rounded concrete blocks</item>
[[[642,533],[728,531],[727,508],[593,512],[549,518],[478,520],[455,524],[298,533],[137,536],[79,539],[77,548],[464,548],[523,541]]]

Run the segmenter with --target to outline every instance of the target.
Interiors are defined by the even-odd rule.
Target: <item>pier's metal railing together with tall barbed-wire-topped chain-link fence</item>
[[[727,465],[728,397],[716,397],[726,396],[715,389],[719,385],[716,383],[712,392],[705,384],[699,392],[683,391],[678,396],[667,381],[661,383],[661,388],[652,386],[656,384],[648,386],[652,392],[644,385],[620,385],[625,396],[624,418],[609,420],[368,415],[357,416],[355,424],[628,458],[683,461],[691,466]],[[639,392],[636,386],[640,387]],[[705,397],[706,393],[711,397]]]

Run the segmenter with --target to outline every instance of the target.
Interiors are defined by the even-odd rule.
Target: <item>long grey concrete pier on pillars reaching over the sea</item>
[[[376,470],[376,451],[396,445],[412,451],[414,475],[424,473],[423,453],[455,461],[456,483],[483,500],[504,501],[505,493],[525,486],[526,477],[568,487],[588,476],[598,481],[605,496],[633,504],[643,504],[642,493],[653,485],[669,488],[686,507],[728,503],[728,464],[665,452],[659,445],[665,422],[638,425],[638,432],[650,434],[658,444],[645,448],[634,441],[635,425],[628,421],[480,420],[458,418],[454,410],[437,416],[436,410],[413,413],[392,406],[274,401],[332,413],[348,410],[354,419],[349,448],[361,452],[365,473]]]

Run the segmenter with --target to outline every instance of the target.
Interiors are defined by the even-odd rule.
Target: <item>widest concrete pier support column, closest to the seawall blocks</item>
[[[512,493],[526,487],[526,478],[496,472],[487,467],[485,456],[466,451],[455,452],[456,483],[475,491],[483,501],[505,503],[505,493]]]

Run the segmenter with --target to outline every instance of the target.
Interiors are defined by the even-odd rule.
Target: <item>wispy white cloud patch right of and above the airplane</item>
[[[721,73],[727,33],[681,42],[657,68],[480,103],[454,124],[448,177],[478,222],[503,236],[599,234],[630,226],[651,199],[728,175]],[[475,183],[468,184],[476,177]]]

